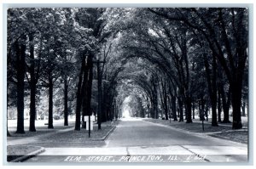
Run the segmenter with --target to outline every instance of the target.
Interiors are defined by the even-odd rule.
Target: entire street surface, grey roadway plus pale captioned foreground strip
[[[247,162],[247,145],[139,119],[120,121],[98,148],[47,148],[26,162]]]

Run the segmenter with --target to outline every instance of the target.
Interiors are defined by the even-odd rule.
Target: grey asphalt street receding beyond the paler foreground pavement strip
[[[202,137],[203,136],[203,137]],[[230,142],[195,135],[175,128],[164,127],[140,119],[122,121],[108,138],[108,147],[117,146],[168,146],[168,145],[230,145]],[[233,142],[232,142],[233,143]]]

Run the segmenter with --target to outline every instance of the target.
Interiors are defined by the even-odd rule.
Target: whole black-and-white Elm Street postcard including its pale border
[[[84,6],[6,9],[3,161],[247,165],[252,8]]]

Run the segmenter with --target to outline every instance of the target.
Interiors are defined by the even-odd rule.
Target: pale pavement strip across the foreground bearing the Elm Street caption
[[[247,149],[231,146],[172,145],[165,147],[50,148],[27,163],[205,163],[247,162]]]

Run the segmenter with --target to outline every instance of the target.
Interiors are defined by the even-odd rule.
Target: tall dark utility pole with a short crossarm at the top
[[[98,112],[97,112],[97,123],[98,130],[102,129],[102,72],[100,64],[106,63],[106,61],[93,61],[97,65],[97,76],[98,76]]]

